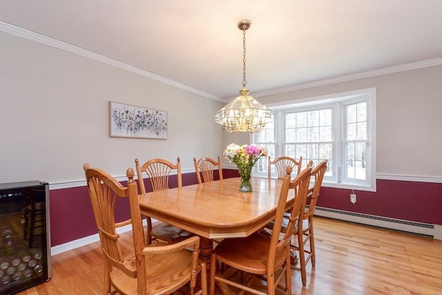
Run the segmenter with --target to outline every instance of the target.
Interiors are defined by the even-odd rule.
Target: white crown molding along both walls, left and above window
[[[105,57],[103,55],[99,55],[97,53],[90,52],[90,51],[85,50],[83,48],[73,46],[72,44],[67,44],[65,42],[62,42],[62,41],[59,41],[56,39],[52,39],[50,37],[38,34],[36,32],[32,32],[30,30],[19,28],[17,26],[13,26],[10,23],[5,23],[3,21],[0,21],[0,31],[6,32],[11,35],[15,35],[17,37],[21,37],[24,39],[35,41],[40,44],[45,44],[47,46],[51,46],[54,48],[65,50],[70,53],[80,55],[82,57],[93,59],[95,61],[100,61],[100,62],[103,62],[104,64],[109,64],[111,66],[115,66],[115,67],[121,68],[123,70],[128,70],[131,73],[135,73],[137,75],[141,75],[143,77],[147,77],[147,78],[153,79],[155,81],[162,82],[164,84],[168,84],[168,85],[183,89],[184,91],[189,91],[191,93],[195,93],[197,95],[201,95],[201,96],[209,98],[209,99],[214,99],[214,100],[217,100],[218,102],[229,102],[231,100],[231,97],[222,98],[222,97],[218,97],[216,95],[212,95],[210,93],[206,93],[204,91],[200,91],[198,89],[195,89],[190,86],[184,85],[182,83],[176,82],[172,79],[168,79],[166,77],[162,77],[160,75],[156,75],[154,73],[148,72],[147,70],[142,70],[141,68],[137,68],[135,66],[124,64],[121,61],[117,61],[115,59],[111,59],[109,57]],[[413,62],[410,64],[390,66],[389,68],[381,68],[378,70],[369,70],[369,71],[362,72],[362,73],[334,77],[334,78],[330,78],[330,79],[323,79],[323,80],[318,80],[315,82],[296,84],[293,86],[272,89],[269,91],[260,91],[257,93],[253,93],[253,96],[254,97],[264,97],[264,96],[276,95],[276,94],[280,94],[280,93],[287,93],[287,92],[291,92],[291,91],[298,91],[301,89],[314,88],[314,87],[318,87],[318,86],[325,86],[325,85],[330,85],[330,84],[349,82],[349,81],[353,81],[353,80],[357,80],[357,79],[363,79],[363,78],[376,77],[376,76],[387,75],[387,74],[392,74],[392,73],[398,73],[398,72],[403,72],[406,70],[416,70],[419,68],[427,68],[430,66],[441,66],[441,65],[442,65],[442,57],[437,57],[435,59],[428,59],[425,61],[416,61],[416,62]]]

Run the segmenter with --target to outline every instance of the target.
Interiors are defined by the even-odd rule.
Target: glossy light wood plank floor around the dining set
[[[316,269],[293,294],[442,294],[442,241],[315,217]],[[125,239],[130,247],[129,234]],[[52,279],[21,295],[102,294],[99,242],[52,257]]]

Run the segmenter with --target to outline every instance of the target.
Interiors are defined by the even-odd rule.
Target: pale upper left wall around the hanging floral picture
[[[88,162],[114,176],[135,158],[222,154],[214,114],[223,104],[0,32],[0,182],[84,180]],[[108,136],[108,101],[167,111],[167,140]]]

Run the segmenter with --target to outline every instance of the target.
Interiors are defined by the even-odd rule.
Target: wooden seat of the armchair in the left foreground
[[[147,293],[171,294],[177,285],[184,285],[190,279],[192,253],[181,250],[169,254],[146,257]],[[122,294],[138,294],[137,278],[130,278],[119,269],[111,272],[112,285]]]

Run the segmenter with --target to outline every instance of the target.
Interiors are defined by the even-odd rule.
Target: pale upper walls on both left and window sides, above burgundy
[[[0,182],[83,180],[84,162],[119,176],[134,158],[180,156],[190,170],[194,156],[249,142],[213,122],[223,103],[3,32],[0,44]],[[376,174],[441,178],[442,66],[255,97],[273,104],[372,87]],[[168,139],[108,137],[109,100],[167,111]]]

